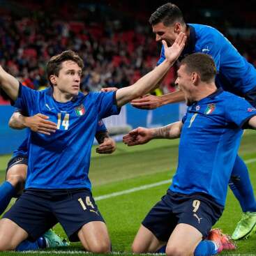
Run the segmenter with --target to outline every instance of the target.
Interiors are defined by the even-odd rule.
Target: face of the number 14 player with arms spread
[[[74,61],[63,61],[59,75],[55,77],[56,84],[62,93],[76,96],[80,90],[82,68]]]

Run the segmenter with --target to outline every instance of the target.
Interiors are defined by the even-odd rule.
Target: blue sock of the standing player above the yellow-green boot
[[[238,199],[243,212],[256,211],[256,201],[253,186],[250,183],[249,172],[246,164],[239,156],[236,156],[229,188],[232,189],[236,199]]]

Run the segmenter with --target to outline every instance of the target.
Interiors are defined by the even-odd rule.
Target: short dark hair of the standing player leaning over
[[[185,24],[181,10],[173,3],[165,3],[151,14],[149,18],[151,26],[156,25],[159,22],[163,22],[166,27],[174,24],[174,22]]]

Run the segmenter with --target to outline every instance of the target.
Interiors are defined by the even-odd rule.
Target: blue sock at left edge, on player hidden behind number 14
[[[6,207],[10,203],[10,199],[15,195],[15,188],[13,185],[4,181],[0,186],[0,215],[6,210]]]

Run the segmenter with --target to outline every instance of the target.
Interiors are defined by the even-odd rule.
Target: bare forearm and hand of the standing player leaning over
[[[154,110],[157,107],[170,103],[180,103],[184,100],[183,91],[175,91],[162,96],[144,95],[142,98],[132,100],[130,104],[142,110]]]

